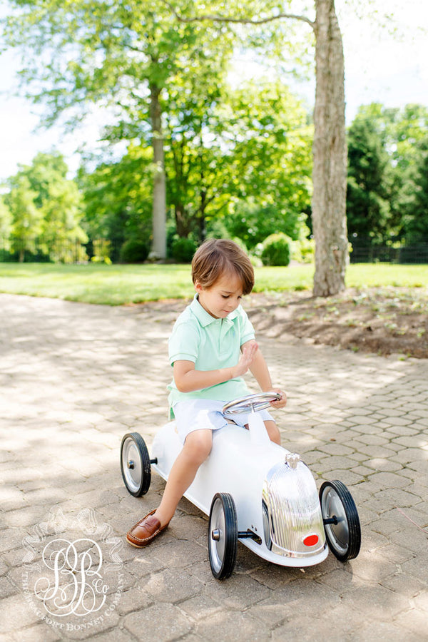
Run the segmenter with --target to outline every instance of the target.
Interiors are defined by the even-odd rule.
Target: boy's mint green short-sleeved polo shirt
[[[198,301],[193,301],[175,321],[168,342],[170,365],[175,361],[192,361],[195,370],[217,370],[235,366],[243,343],[255,338],[254,328],[241,306],[224,319],[212,317]],[[232,401],[248,394],[243,377],[236,377],[215,386],[180,392],[174,380],[169,384],[170,408],[185,399],[215,399]]]

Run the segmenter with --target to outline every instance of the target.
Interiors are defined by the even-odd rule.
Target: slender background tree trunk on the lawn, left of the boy
[[[152,252],[160,259],[166,258],[166,183],[163,154],[162,111],[159,95],[161,89],[150,86],[150,115],[153,146],[153,245]]]

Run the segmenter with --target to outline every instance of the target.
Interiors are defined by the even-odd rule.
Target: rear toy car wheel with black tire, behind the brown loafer
[[[133,457],[134,468],[128,468],[130,456]],[[128,432],[121,443],[121,472],[126,489],[134,497],[145,495],[151,484],[150,455],[146,442],[138,432]]]

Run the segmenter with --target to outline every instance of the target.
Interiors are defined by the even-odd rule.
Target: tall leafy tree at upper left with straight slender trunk
[[[46,103],[47,123],[71,113],[68,125],[76,126],[96,105],[116,121],[106,139],[150,140],[153,251],[165,258],[165,91],[176,78],[195,76],[204,61],[218,73],[231,51],[227,34],[177,24],[156,0],[10,2],[18,11],[6,21],[6,41],[36,52],[32,64],[24,61],[22,78],[28,96]]]

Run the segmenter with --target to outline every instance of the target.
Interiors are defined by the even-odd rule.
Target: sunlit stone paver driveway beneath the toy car
[[[148,549],[126,544],[164,482],[128,494],[121,438],[165,422],[179,310],[0,295],[0,641],[426,641],[426,360],[258,337],[289,396],[282,444],[352,491],[357,559],[285,569],[239,545],[220,583],[186,500]]]

